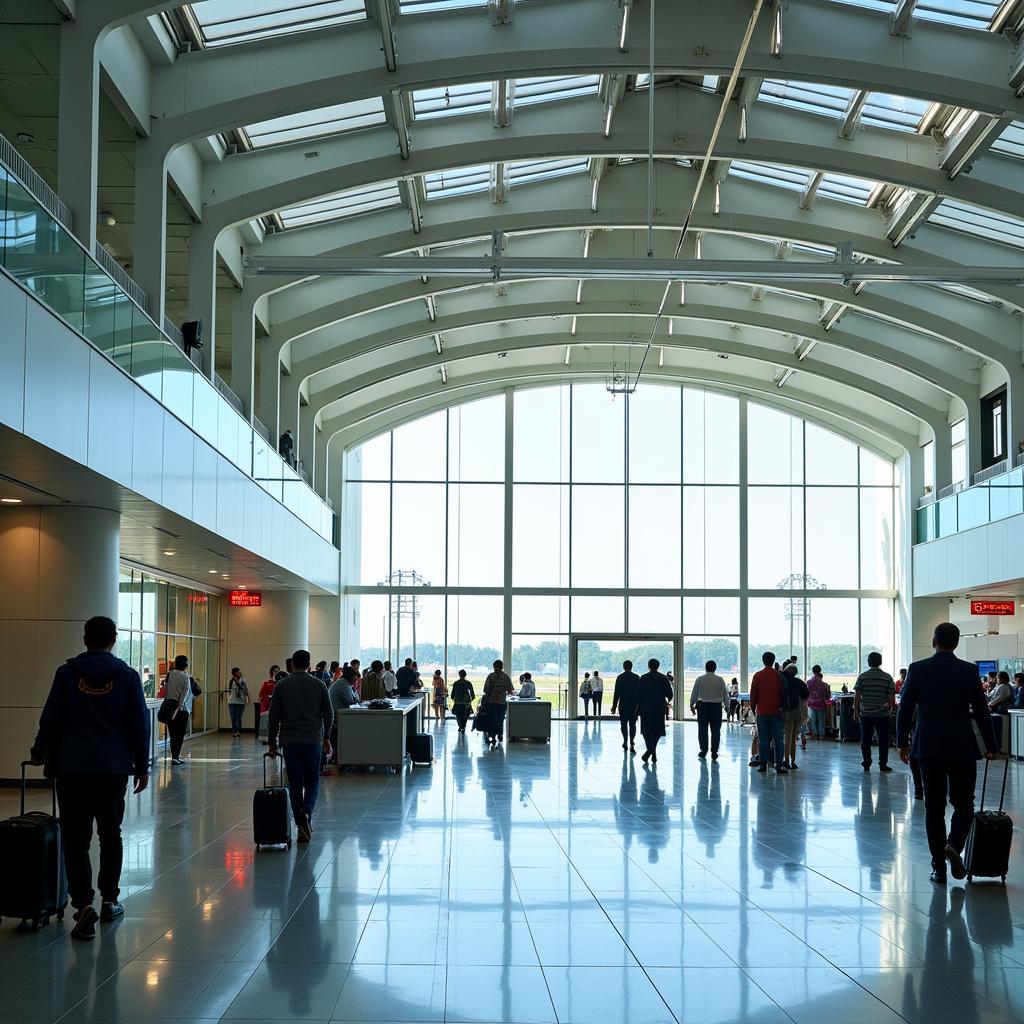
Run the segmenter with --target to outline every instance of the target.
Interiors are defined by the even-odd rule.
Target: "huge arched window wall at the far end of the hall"
[[[713,391],[510,393],[346,454],[346,657],[479,681],[504,651],[553,698],[573,633],[680,633],[684,678],[898,668],[892,462]]]

